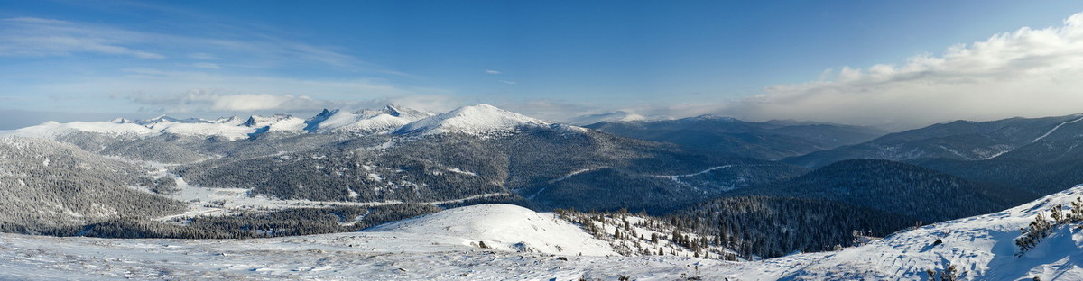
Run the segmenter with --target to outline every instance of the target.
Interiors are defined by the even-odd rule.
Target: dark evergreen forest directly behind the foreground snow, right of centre
[[[675,226],[716,237],[746,259],[851,246],[866,235],[884,237],[914,222],[835,201],[764,196],[718,198],[679,210],[670,218]]]

